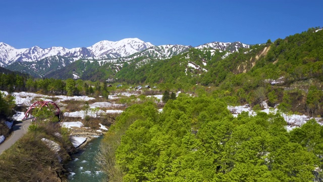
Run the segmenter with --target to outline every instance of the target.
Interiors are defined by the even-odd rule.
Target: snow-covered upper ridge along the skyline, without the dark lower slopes
[[[249,45],[241,42],[210,42],[195,47],[196,49],[216,49],[222,51],[236,52],[237,49],[228,49],[229,45],[237,47],[248,47]],[[11,45],[0,42],[0,66],[7,67],[15,62],[34,62],[51,56],[64,56],[78,59],[118,59],[129,57],[138,52],[157,46],[156,49],[168,49],[169,47],[182,47],[179,50],[165,54],[158,53],[161,57],[171,57],[180,54],[183,49],[188,49],[190,45],[153,45],[150,42],[144,42],[139,38],[124,38],[119,41],[101,40],[90,47],[79,47],[67,49],[64,47],[41,48],[37,45],[31,48],[16,49]],[[231,46],[231,47],[232,47]],[[164,47],[164,48],[163,48]],[[150,50],[151,51],[151,50]],[[149,51],[148,51],[149,52]],[[169,55],[168,55],[169,54]],[[156,56],[157,56],[156,55]]]

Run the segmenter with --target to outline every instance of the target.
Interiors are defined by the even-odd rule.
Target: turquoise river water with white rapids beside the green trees
[[[95,163],[94,157],[103,136],[91,140],[78,153],[72,155],[72,161],[67,164],[70,171],[69,181],[101,181],[104,174]]]

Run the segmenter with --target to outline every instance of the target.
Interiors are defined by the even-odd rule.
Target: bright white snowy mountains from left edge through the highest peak
[[[72,58],[89,58],[110,55],[112,58],[125,57],[136,52],[152,47],[149,42],[138,38],[125,38],[120,41],[103,40],[88,48],[51,47],[42,49],[34,46],[29,49],[15,49],[14,47],[0,42],[0,66],[7,66],[16,61],[30,62],[41,60],[50,56],[64,56]]]

